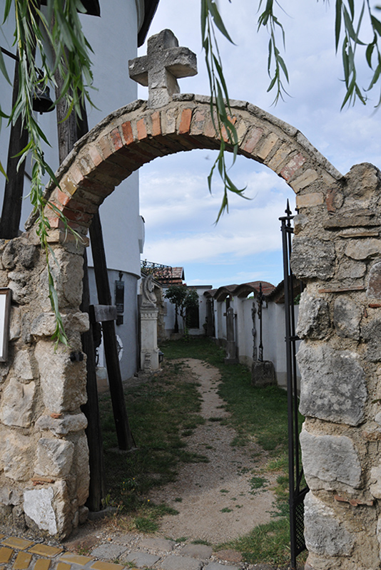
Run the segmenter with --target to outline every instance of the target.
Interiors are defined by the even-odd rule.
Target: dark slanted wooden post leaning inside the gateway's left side
[[[98,291],[98,303],[101,305],[111,305],[112,299],[110,285],[108,283],[106,253],[103,245],[101,219],[98,212],[94,214],[93,221],[91,222],[90,238],[96,276],[96,289]],[[135,447],[135,442],[128,423],[126,403],[124,400],[121,368],[119,366],[118,347],[116,344],[115,322],[104,321],[102,323],[102,331],[118,447],[121,450],[131,450]]]

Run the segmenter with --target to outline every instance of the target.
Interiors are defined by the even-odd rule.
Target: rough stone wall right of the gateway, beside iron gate
[[[306,569],[379,569],[381,173],[352,167],[295,218]]]

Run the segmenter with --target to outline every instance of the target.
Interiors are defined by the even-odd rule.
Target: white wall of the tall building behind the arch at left
[[[0,0],[4,12],[5,0]],[[131,103],[137,98],[137,83],[128,76],[128,60],[137,55],[138,24],[142,23],[144,12],[143,0],[100,0],[101,17],[81,14],[81,24],[93,53],[93,86],[90,90],[91,99],[96,108],[86,103],[89,128],[93,128],[101,119],[113,110]],[[5,36],[0,44],[12,53],[15,48],[13,41],[13,24],[7,24]],[[14,60],[4,56],[4,61],[11,81],[14,77]],[[9,113],[11,110],[12,87],[0,76],[1,108]],[[54,99],[54,90],[51,90]],[[57,145],[56,113],[38,115],[39,124],[46,133],[51,147],[46,146],[45,157],[49,165],[56,170],[59,167]],[[0,133],[0,160],[6,167],[8,154],[9,133],[3,121]],[[30,172],[30,166],[26,165]],[[0,212],[4,196],[4,178],[0,178]],[[24,197],[29,194],[29,180],[25,180]],[[29,216],[31,206],[29,199],[23,202],[21,228]],[[125,351],[121,361],[122,375],[126,378],[136,371],[136,343],[137,343],[137,281],[140,277],[140,254],[143,250],[144,229],[139,215],[138,172],[134,172],[123,181],[99,209],[103,227],[103,240],[106,249],[108,269],[111,269],[111,294],[113,282],[118,271],[123,271],[125,284],[126,315],[124,323],[118,326],[118,335],[122,338]],[[91,248],[88,248],[88,264],[92,266]],[[118,279],[118,277],[116,277]],[[98,302],[96,289],[91,287],[91,302]],[[128,305],[129,304],[129,305]],[[128,305],[128,309],[127,309]]]

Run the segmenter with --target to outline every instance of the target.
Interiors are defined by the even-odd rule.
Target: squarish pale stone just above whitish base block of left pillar
[[[46,477],[66,477],[71,470],[73,453],[73,442],[41,437],[34,471]]]

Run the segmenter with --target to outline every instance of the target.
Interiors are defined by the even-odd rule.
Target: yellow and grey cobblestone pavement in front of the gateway
[[[268,564],[245,564],[234,550],[213,553],[204,544],[132,533],[113,535],[96,546],[77,547],[77,551],[51,544],[0,534],[0,570],[276,570]]]

